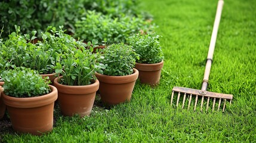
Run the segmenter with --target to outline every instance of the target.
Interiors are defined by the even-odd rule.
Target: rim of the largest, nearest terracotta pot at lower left
[[[18,98],[18,97],[10,97],[5,95],[3,92],[4,103],[10,107],[17,108],[36,108],[44,105],[48,105],[57,100],[58,92],[57,88],[52,85],[49,85],[51,92],[49,94],[41,95],[39,97],[26,97],[26,98]]]

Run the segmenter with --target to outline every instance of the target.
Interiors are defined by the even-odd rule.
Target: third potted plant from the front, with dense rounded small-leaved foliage
[[[138,70],[134,69],[137,54],[124,43],[112,44],[102,50],[98,62],[104,67],[96,73],[100,81],[100,97],[106,105],[130,101]]]

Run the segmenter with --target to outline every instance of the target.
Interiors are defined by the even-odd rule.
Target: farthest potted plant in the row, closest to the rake
[[[140,56],[135,64],[135,69],[140,72],[138,78],[141,83],[150,86],[159,84],[161,69],[164,66],[164,54],[159,44],[159,37],[155,33],[147,35],[138,33],[128,38],[129,45]]]

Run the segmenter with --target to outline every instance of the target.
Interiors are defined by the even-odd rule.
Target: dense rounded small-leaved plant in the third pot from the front
[[[124,43],[113,43],[102,50],[103,58],[98,62],[104,64],[99,71],[101,74],[108,76],[126,76],[133,73],[132,68],[135,66],[135,58],[139,58],[131,46]]]

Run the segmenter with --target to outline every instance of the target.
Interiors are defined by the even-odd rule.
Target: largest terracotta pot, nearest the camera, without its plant
[[[33,135],[53,130],[53,108],[58,95],[57,89],[49,86],[50,94],[40,97],[16,98],[3,94],[14,130]]]

